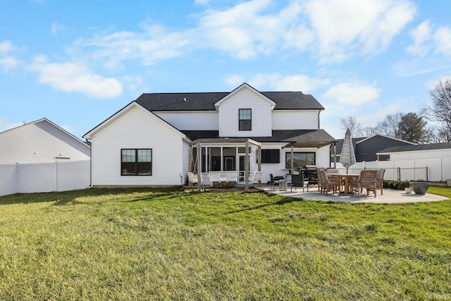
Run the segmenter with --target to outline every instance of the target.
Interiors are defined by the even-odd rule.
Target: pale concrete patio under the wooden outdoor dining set
[[[426,193],[426,195],[415,195],[413,192],[411,194],[407,194],[404,190],[393,190],[385,188],[383,190],[383,195],[381,195],[381,191],[378,190],[377,197],[373,197],[373,194],[366,195],[366,190],[360,196],[344,193],[329,193],[328,195],[321,194],[318,191],[318,186],[310,186],[309,191],[307,192],[307,188],[305,192],[302,192],[302,188],[293,188],[292,192],[290,191],[290,186],[288,186],[288,190],[279,190],[278,186],[275,186],[274,190],[271,190],[269,185],[261,185],[261,187],[256,186],[255,188],[274,193],[276,195],[286,195],[287,197],[302,197],[303,199],[318,199],[322,201],[330,201],[330,202],[351,202],[351,203],[378,203],[378,204],[397,204],[397,203],[412,203],[412,202],[435,202],[435,201],[443,201],[448,199],[447,197],[442,197],[440,195],[432,195],[431,193]]]

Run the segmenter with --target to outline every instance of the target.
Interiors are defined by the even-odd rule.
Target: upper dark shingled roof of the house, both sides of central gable
[[[275,110],[308,110],[324,107],[302,92],[260,92],[276,103]],[[214,111],[214,104],[230,92],[144,93],[135,102],[149,111]],[[186,99],[186,101],[185,101]]]

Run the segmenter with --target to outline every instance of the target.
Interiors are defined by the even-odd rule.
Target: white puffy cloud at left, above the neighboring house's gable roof
[[[100,99],[117,97],[122,93],[122,82],[94,74],[82,63],[49,63],[47,57],[38,56],[30,68],[39,73],[39,82],[55,90],[80,92]]]

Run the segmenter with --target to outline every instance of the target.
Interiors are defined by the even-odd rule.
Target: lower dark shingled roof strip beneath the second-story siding
[[[192,141],[219,138],[218,130],[182,130]],[[237,137],[229,137],[237,138]],[[325,130],[273,130],[272,137],[249,137],[257,142],[334,142]]]

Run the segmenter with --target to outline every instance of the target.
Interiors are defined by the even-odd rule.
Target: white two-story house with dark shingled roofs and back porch
[[[244,183],[245,171],[259,170],[266,182],[291,165],[326,168],[335,140],[320,129],[323,110],[311,95],[246,83],[142,94],[83,136],[92,143],[92,185],[180,185],[188,171],[202,171],[205,183],[211,171],[237,171]]]

